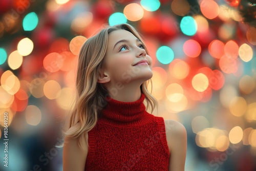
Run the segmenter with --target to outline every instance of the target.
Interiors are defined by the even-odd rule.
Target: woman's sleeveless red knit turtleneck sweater
[[[108,104],[88,132],[88,170],[168,170],[169,149],[162,117],[134,102],[106,97]]]

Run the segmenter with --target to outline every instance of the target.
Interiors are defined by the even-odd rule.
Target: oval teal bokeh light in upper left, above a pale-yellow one
[[[34,30],[37,24],[38,24],[38,17],[34,12],[27,14],[23,19],[23,28],[25,31]]]

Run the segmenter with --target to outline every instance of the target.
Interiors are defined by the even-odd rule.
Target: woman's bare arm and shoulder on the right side
[[[184,171],[186,151],[187,151],[187,133],[185,127],[178,121],[169,120],[169,126],[166,138],[170,142],[169,171]]]

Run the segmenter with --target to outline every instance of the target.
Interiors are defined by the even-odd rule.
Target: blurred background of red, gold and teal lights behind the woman
[[[1,0],[0,170],[62,170],[80,47],[120,23],[152,57],[153,114],[186,127],[185,170],[256,170],[255,17],[255,0]]]

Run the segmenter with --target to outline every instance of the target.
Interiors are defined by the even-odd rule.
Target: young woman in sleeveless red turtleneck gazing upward
[[[129,24],[106,27],[82,46],[63,170],[184,170],[186,130],[151,113],[152,59]],[[143,102],[146,102],[146,107]]]

